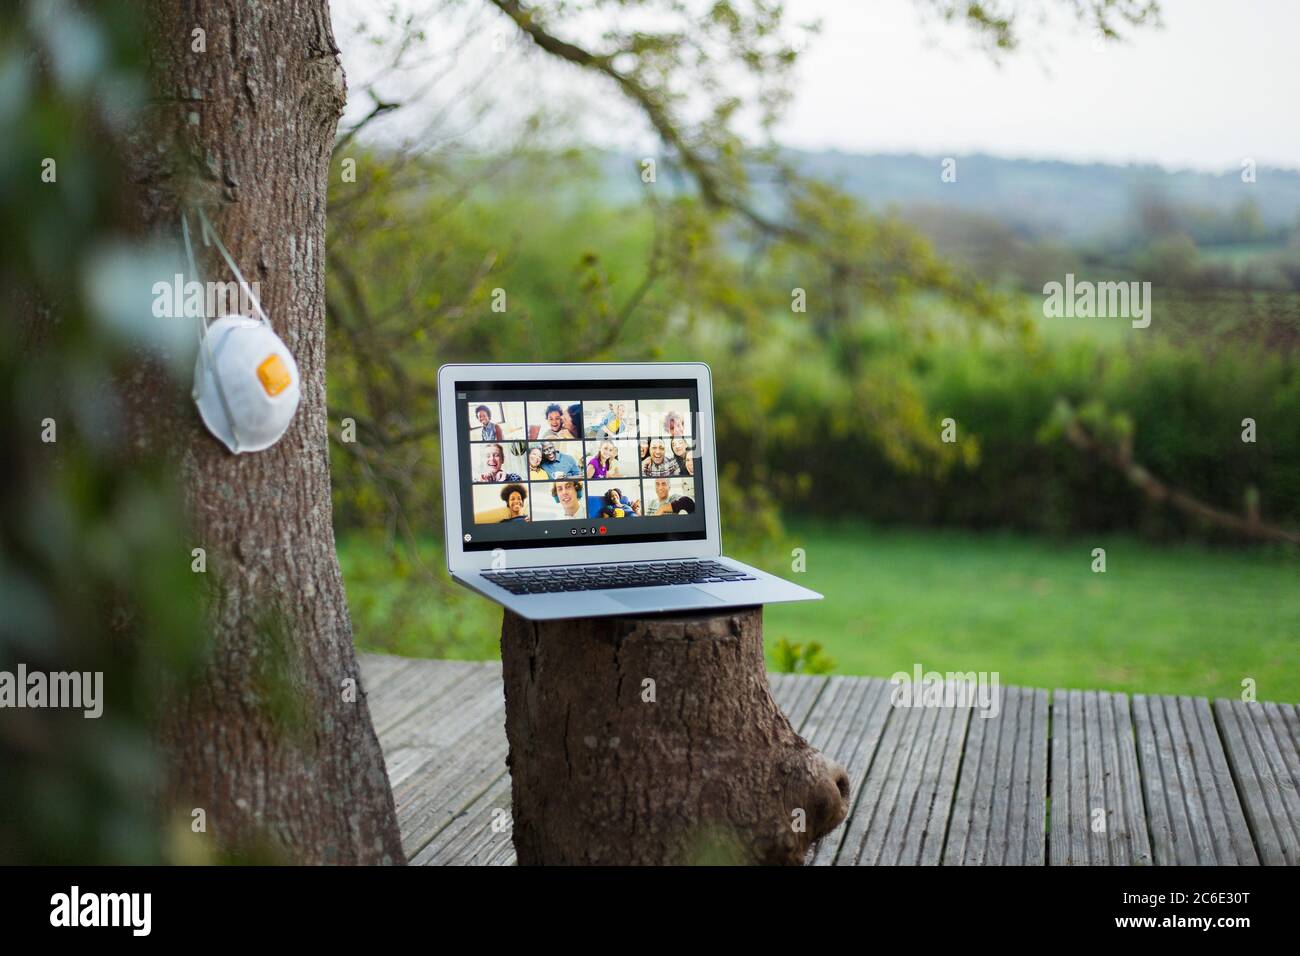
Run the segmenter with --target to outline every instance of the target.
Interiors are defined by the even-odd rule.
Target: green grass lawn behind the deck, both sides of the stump
[[[793,548],[806,551],[803,574],[790,574]],[[1105,574],[1091,570],[1093,548],[1106,549]],[[400,578],[356,538],[339,557],[358,646],[497,656],[494,605],[404,587],[412,572]],[[1232,697],[1252,678],[1261,700],[1300,701],[1300,557],[807,523],[736,557],[826,594],[768,607],[768,649],[820,641],[840,674],[920,663],[997,671],[1004,684]],[[441,567],[436,542],[424,562]]]

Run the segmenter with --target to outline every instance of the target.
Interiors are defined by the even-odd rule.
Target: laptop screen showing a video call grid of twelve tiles
[[[706,535],[693,378],[456,382],[456,423],[465,550]]]

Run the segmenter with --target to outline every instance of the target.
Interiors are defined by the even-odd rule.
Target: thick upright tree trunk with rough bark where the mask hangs
[[[178,241],[179,204],[203,206],[302,376],[287,433],[256,454],[226,451],[174,395],[146,419],[146,438],[174,445],[211,585],[209,663],[161,715],[169,805],[186,822],[203,809],[224,852],[403,862],[332,524],[325,196],[346,87],[328,3],[150,9],[159,105],[135,147],[140,216]],[[231,278],[195,242],[202,278]]]

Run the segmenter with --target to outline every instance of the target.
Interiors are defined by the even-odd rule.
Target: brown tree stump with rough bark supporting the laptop
[[[849,777],[772,700],[760,607],[532,622],[506,611],[520,864],[802,864]]]

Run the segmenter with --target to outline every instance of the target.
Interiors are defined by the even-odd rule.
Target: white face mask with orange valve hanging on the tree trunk
[[[203,424],[234,454],[261,451],[283,437],[298,411],[302,398],[298,363],[270,328],[270,320],[202,209],[199,219],[204,242],[209,237],[216,242],[260,321],[250,316],[228,315],[208,325],[205,319],[200,319],[194,401],[199,406]],[[190,248],[190,225],[183,216],[181,224],[190,271],[198,278]]]

